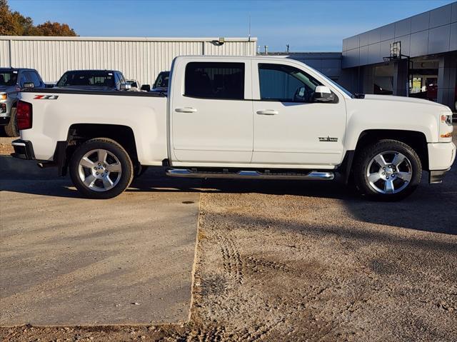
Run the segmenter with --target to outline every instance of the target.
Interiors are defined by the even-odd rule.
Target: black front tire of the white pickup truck
[[[383,160],[386,161],[386,170],[383,169],[381,164],[373,161],[379,154],[383,154]],[[403,163],[398,164],[398,166],[391,164],[396,154],[406,157]],[[371,168],[375,170],[373,173],[371,173],[373,170]],[[376,169],[379,171],[376,171]],[[368,173],[374,175],[373,179],[376,179],[378,176],[383,178],[380,178],[376,182],[373,179],[369,181]],[[401,176],[401,174],[406,176]],[[401,141],[381,140],[363,147],[361,151],[356,153],[356,159],[353,164],[353,176],[356,187],[362,195],[375,201],[398,201],[411,195],[419,183],[421,183],[421,159],[416,154],[416,151]],[[403,180],[403,178],[406,178],[407,181]],[[386,183],[388,182],[393,184],[393,187],[387,187]],[[394,189],[393,191],[392,188]]]

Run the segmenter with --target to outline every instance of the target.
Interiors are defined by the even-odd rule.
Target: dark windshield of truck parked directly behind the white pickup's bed
[[[69,71],[57,86],[110,86],[114,87],[114,74],[106,71]]]

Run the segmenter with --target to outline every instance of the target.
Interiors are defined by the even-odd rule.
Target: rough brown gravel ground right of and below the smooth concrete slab
[[[0,338],[457,341],[456,164],[398,203],[291,181],[203,181],[200,202],[189,323],[21,326]]]

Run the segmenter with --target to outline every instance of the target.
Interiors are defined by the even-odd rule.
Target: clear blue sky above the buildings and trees
[[[247,36],[269,51],[341,51],[343,38],[451,0],[223,1],[9,0],[35,24],[59,21],[80,36]]]

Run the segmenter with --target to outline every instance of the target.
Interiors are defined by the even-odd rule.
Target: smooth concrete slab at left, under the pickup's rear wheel
[[[0,325],[186,321],[199,193],[79,198],[68,178],[0,156]],[[154,172],[145,183],[161,183]]]

